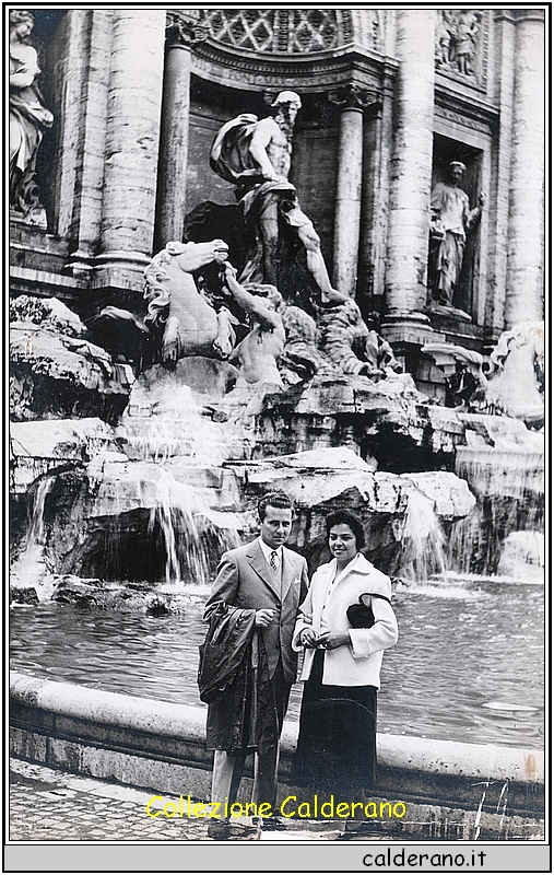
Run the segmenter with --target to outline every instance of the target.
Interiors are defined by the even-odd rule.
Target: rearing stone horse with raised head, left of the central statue
[[[144,322],[153,332],[163,331],[162,363],[175,368],[188,355],[228,359],[235,341],[233,317],[226,306],[216,310],[208,294],[199,291],[195,272],[228,256],[222,240],[209,243],[167,243],[146,270]]]

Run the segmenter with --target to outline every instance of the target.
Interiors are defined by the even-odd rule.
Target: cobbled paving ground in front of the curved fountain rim
[[[212,841],[199,818],[148,817],[148,790],[83,778],[25,760],[10,759],[11,841]],[[164,794],[164,804],[178,796]],[[152,806],[152,810],[156,810]],[[178,810],[178,808],[177,808]],[[294,824],[262,831],[261,841],[335,841],[335,824]]]

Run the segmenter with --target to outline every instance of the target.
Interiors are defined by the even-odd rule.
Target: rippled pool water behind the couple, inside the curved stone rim
[[[204,707],[196,675],[205,595],[189,587],[187,614],[163,617],[52,603],[16,607],[12,667]],[[543,602],[542,586],[478,576],[399,588],[400,639],[384,658],[379,732],[540,748]],[[300,691],[293,689],[291,720]]]

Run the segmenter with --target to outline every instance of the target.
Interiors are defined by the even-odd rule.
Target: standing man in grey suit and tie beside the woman
[[[232,688],[208,711],[208,747],[214,748],[211,801],[222,803],[221,812],[225,801],[229,808],[235,801],[246,756],[252,749],[252,802],[257,806],[269,803],[274,810],[279,739],[291,686],[296,680],[292,638],[297,608],[308,588],[306,560],[284,546],[293,522],[288,497],[283,492],[266,493],[258,503],[258,514],[259,537],[223,555],[204,615],[209,617],[222,602],[256,611],[252,660],[260,670],[252,673],[254,689],[246,688],[241,732],[237,734],[235,725],[226,725],[236,713]],[[240,747],[223,747],[223,739],[232,736],[241,737]],[[228,822],[211,820],[209,835],[225,838]]]

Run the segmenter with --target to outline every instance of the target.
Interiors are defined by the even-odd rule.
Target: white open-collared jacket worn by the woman
[[[337,572],[337,560],[320,565],[315,572],[308,594],[299,607],[293,634],[293,650],[302,651],[299,635],[303,629],[321,632],[321,612],[329,584]],[[382,651],[397,643],[398,626],[394,612],[382,598],[372,599],[375,625],[370,629],[352,629],[346,617],[350,605],[358,602],[362,593],[379,593],[390,599],[390,579],[378,571],[362,553],[337,576],[327,606],[327,621],[331,629],[347,631],[350,646],[326,650],[323,656],[323,684],[341,687],[373,686],[379,689]],[[299,680],[307,680],[314,663],[314,649],[307,648]]]

